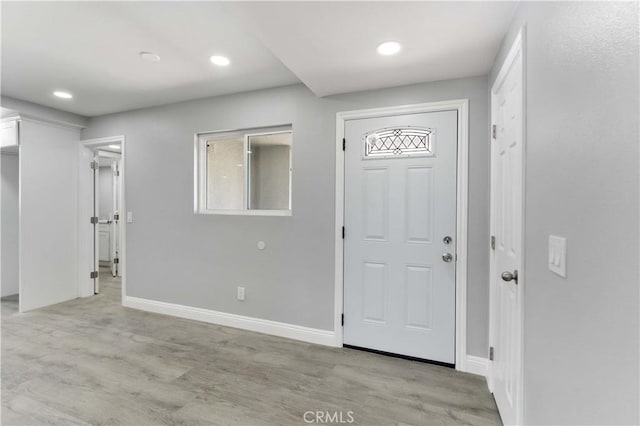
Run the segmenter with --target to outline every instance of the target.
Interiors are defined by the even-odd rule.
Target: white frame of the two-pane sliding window
[[[253,136],[291,134],[292,143],[289,147],[289,208],[288,209],[250,209],[250,159],[249,138]],[[224,139],[226,137],[239,136],[243,138],[243,168],[244,168],[244,209],[209,209],[207,208],[208,193],[208,162],[207,141],[212,139]],[[292,216],[292,187],[293,187],[293,126],[282,124],[277,126],[253,127],[237,130],[222,130],[212,132],[199,132],[194,135],[194,213],[231,215],[231,216]]]

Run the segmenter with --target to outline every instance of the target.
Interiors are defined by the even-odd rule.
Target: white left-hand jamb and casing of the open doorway
[[[97,161],[95,153],[84,145],[79,145],[78,162],[78,259],[80,296],[86,297],[99,290],[99,277],[92,277],[92,272],[99,271],[98,224],[91,218],[98,216],[98,170],[92,164]]]

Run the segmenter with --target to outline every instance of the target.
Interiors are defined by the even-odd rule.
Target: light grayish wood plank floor
[[[484,378],[127,309],[119,280],[102,287],[25,314],[2,300],[3,425],[500,424]]]

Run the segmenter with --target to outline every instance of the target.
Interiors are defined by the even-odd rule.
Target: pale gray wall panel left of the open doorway
[[[20,123],[23,312],[78,297],[79,140],[79,129]]]

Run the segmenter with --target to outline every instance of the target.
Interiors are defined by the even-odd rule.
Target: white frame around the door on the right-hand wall
[[[525,28],[521,28],[518,31],[518,35],[516,36],[515,40],[513,41],[513,44],[511,45],[511,48],[509,49],[509,53],[507,54],[507,56],[505,57],[504,61],[502,62],[502,65],[500,65],[500,71],[498,72],[498,76],[496,77],[493,86],[491,86],[491,92],[489,93],[489,101],[491,103],[491,123],[496,123],[497,122],[497,105],[494,102],[494,97],[495,97],[495,93],[496,90],[498,89],[498,87],[500,87],[500,85],[503,83],[504,79],[507,77],[507,74],[509,73],[509,70],[511,68],[511,65],[513,64],[513,62],[517,59],[518,55],[521,55],[522,57],[522,203],[523,203],[523,208],[522,208],[522,238],[521,238],[521,253],[522,253],[522,259],[521,259],[521,265],[520,265],[520,270],[518,271],[518,287],[520,289],[520,297],[519,297],[519,303],[520,303],[520,357],[517,360],[520,363],[520,369],[519,369],[519,380],[518,380],[518,389],[516,390],[516,395],[518,398],[518,402],[517,402],[517,410],[516,410],[516,423],[521,425],[524,423],[524,298],[525,298],[525,294],[526,294],[526,262],[525,262],[525,219],[526,219],[526,215],[525,215],[525,209],[524,209],[524,205],[525,205],[525,187],[526,187],[526,164],[527,164],[527,144],[526,144],[526,140],[527,140],[527,114],[526,114],[526,106],[527,106],[527,102],[526,102],[526,93],[527,93],[527,87],[526,87],[526,83],[527,83],[527,79],[526,79],[526,56],[525,56]],[[493,140],[491,135],[489,136],[489,143],[493,144]],[[491,173],[491,182],[490,182],[490,187],[493,189],[493,165],[490,164],[489,166],[489,170]],[[490,214],[490,224],[491,224],[491,232],[493,234],[493,195],[491,194],[491,202],[490,202],[490,210],[489,210],[489,214]],[[495,339],[497,338],[497,336],[495,336],[495,318],[493,315],[495,306],[494,306],[494,280],[497,279],[498,277],[498,271],[496,271],[495,269],[495,264],[494,264],[494,257],[492,255],[491,257],[491,261],[490,261],[490,266],[489,266],[489,345],[492,346],[493,342],[495,341]],[[494,385],[494,374],[493,374],[493,368],[491,365],[491,361],[489,361],[489,366],[487,368],[487,383],[489,385],[489,390],[491,390],[493,392],[493,385]]]

